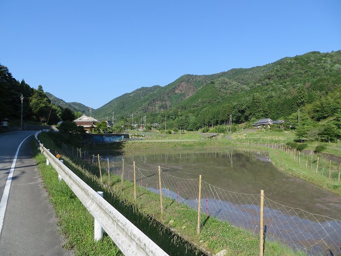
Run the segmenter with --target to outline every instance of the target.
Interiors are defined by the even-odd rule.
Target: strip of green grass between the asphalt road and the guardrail
[[[123,255],[109,236],[94,241],[94,217],[78,200],[68,185],[58,180],[52,165],[46,165],[46,158],[37,154],[35,160],[45,188],[53,204],[60,231],[66,236],[65,249],[74,249],[76,256],[121,256]]]

